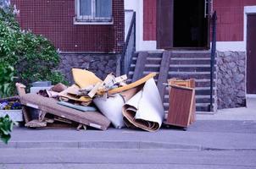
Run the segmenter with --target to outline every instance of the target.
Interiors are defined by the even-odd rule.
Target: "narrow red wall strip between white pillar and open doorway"
[[[143,1],[143,40],[156,41],[157,0]]]

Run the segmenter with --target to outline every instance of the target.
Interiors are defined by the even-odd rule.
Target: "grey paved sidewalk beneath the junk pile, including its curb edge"
[[[248,108],[198,115],[198,121],[187,131],[179,128],[161,128],[155,133],[128,128],[107,131],[14,128],[9,144],[1,143],[0,148],[256,150],[253,101],[256,100],[248,101]]]

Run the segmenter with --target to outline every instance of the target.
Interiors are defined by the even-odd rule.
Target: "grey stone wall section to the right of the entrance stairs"
[[[217,53],[218,109],[246,106],[246,53]]]

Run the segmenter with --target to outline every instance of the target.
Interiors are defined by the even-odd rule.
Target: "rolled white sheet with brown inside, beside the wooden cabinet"
[[[164,106],[154,79],[148,79],[142,90],[122,108],[127,127],[157,131],[164,120]]]

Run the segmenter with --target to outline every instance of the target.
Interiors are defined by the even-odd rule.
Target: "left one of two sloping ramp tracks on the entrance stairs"
[[[145,64],[147,62],[147,56],[147,52],[139,52],[136,60],[136,67],[132,77],[132,82],[135,82],[136,80],[141,79],[143,77],[143,71],[145,68]]]

